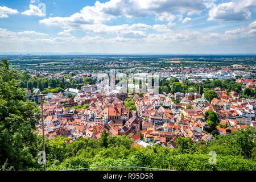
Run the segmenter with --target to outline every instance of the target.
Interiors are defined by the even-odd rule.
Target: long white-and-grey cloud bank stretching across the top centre
[[[110,0],[105,3],[96,1],[94,6],[85,6],[79,13],[68,17],[50,17],[40,20],[48,26],[63,28],[80,27],[81,24],[100,24],[120,16],[141,18],[156,14],[157,20],[171,22],[172,12],[201,11],[206,6],[201,0]]]

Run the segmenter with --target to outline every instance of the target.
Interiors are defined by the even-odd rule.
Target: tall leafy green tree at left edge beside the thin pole
[[[0,166],[8,159],[14,169],[34,167],[33,148],[35,123],[39,108],[34,102],[24,102],[26,91],[19,88],[18,72],[9,68],[9,61],[0,62]],[[42,148],[40,148],[42,150]]]

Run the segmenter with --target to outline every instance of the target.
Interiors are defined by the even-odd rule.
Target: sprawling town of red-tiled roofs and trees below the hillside
[[[176,148],[178,137],[210,142],[215,135],[256,127],[255,60],[249,65],[244,64],[246,61],[226,61],[228,65],[209,61],[207,67],[174,58],[155,63],[113,59],[96,61],[101,70],[69,73],[52,71],[62,67],[58,63],[42,63],[37,66],[40,69],[27,70],[24,68],[29,64],[19,65],[18,70],[22,68],[31,77],[21,84],[27,100],[36,101],[41,109],[35,95],[46,95],[44,134],[49,139],[63,136],[69,143],[81,137],[100,139],[106,131],[112,136],[128,135],[134,146]],[[63,66],[79,67],[79,63]],[[191,66],[183,67],[182,63]],[[205,117],[211,111],[217,113],[216,121],[211,121],[216,122],[214,125]],[[40,120],[36,127],[42,134]]]

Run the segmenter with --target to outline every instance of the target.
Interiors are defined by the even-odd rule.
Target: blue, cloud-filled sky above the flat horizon
[[[256,53],[256,0],[1,0],[9,52]]]

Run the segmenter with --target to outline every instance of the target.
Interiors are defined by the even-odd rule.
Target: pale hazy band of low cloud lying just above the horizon
[[[90,25],[92,26],[92,25]],[[256,21],[225,34],[191,30],[170,30],[158,24],[152,28],[160,33],[146,34],[130,30],[130,26],[114,27],[118,36],[61,36],[44,38],[21,36],[0,28],[2,52],[106,52],[106,53],[246,53],[255,52]],[[102,27],[110,28],[113,27]],[[109,31],[109,30],[108,30]],[[113,30],[111,30],[113,32]],[[40,46],[39,46],[40,45]],[[67,46],[72,45],[72,46]]]

